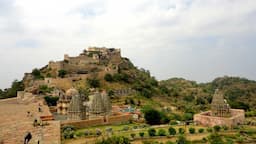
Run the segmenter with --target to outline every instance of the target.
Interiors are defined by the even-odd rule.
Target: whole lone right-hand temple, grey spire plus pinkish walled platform
[[[244,110],[231,109],[219,90],[216,90],[213,95],[211,110],[194,115],[194,121],[204,126],[225,125],[233,127],[243,124],[244,120]]]

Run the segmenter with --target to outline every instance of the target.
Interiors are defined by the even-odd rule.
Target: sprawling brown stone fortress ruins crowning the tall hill
[[[25,73],[25,91],[37,94],[41,85],[66,91],[75,81],[85,80],[95,74],[117,73],[121,62],[121,51],[115,48],[89,47],[75,57],[65,54],[64,60],[50,61],[48,65],[39,69],[40,78],[36,78],[32,73]],[[60,71],[65,74],[60,76]]]

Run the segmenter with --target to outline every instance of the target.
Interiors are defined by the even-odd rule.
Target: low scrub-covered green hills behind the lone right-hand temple
[[[256,81],[253,80],[224,76],[197,84],[183,78],[172,78],[161,81],[160,85],[168,88],[168,95],[174,98],[177,106],[191,104],[198,108],[196,110],[209,108],[214,90],[219,89],[231,108],[256,109]]]

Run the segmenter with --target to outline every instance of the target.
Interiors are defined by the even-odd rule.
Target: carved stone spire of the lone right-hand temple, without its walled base
[[[230,116],[230,107],[223,97],[223,94],[216,89],[211,103],[212,116],[228,117]]]

